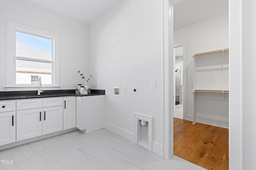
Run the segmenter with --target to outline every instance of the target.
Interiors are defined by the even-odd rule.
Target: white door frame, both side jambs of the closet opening
[[[182,1],[176,0],[174,3]],[[244,0],[229,0],[229,168],[243,169]],[[163,0],[163,156],[173,156],[173,4]]]

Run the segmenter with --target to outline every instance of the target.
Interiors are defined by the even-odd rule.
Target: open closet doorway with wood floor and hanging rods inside
[[[228,170],[228,0],[179,0],[173,9],[173,63],[179,63],[176,52],[186,42],[180,69],[183,117],[178,118],[180,66],[172,65],[174,155],[206,169]]]

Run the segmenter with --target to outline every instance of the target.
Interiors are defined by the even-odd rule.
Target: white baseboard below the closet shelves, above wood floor
[[[219,119],[211,119],[208,117],[203,117],[203,116],[197,116],[196,122],[198,123],[204,123],[207,125],[212,125],[212,126],[217,126],[217,127],[223,127],[228,129],[228,121],[223,121]]]

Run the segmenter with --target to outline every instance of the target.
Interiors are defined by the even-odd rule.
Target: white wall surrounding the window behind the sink
[[[77,73],[89,74],[88,25],[60,16],[26,1],[0,1],[0,91],[6,88],[6,21],[44,29],[60,35],[60,89],[74,89],[83,82]],[[15,89],[21,90],[21,89]],[[28,90],[28,89],[27,89]],[[29,90],[35,90],[29,88]]]

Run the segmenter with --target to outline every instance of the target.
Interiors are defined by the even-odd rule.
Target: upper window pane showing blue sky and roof
[[[52,39],[16,31],[16,56],[52,60]]]

